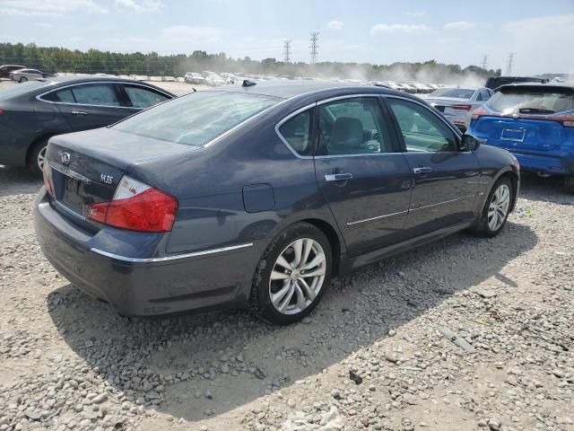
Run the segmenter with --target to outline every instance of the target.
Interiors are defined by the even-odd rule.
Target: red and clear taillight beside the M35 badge
[[[130,231],[170,232],[177,211],[178,199],[125,176],[112,201],[91,205],[88,217]]]

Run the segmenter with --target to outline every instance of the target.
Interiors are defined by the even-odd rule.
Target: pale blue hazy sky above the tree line
[[[426,61],[574,74],[574,0],[0,0],[0,42],[309,62]]]

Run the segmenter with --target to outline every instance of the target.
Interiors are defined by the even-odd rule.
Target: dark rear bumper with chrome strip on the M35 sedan
[[[204,254],[126,258],[113,252],[119,248],[113,236],[103,233],[106,240],[98,238],[103,229],[92,235],[61,215],[43,188],[36,198],[34,227],[54,268],[87,294],[132,316],[243,308],[260,259],[257,244]]]

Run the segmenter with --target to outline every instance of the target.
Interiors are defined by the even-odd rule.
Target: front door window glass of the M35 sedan
[[[417,103],[387,99],[404,139],[406,151],[456,151],[457,136],[430,110]]]

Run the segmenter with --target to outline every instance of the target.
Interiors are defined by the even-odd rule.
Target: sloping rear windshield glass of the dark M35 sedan
[[[283,99],[240,92],[195,92],[113,126],[178,144],[203,146]]]

